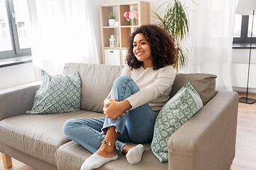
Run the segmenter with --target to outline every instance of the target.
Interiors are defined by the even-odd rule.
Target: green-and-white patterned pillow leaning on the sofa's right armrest
[[[154,125],[154,137],[151,149],[160,162],[168,162],[167,141],[187,120],[203,107],[203,102],[191,83],[188,81],[161,108]]]

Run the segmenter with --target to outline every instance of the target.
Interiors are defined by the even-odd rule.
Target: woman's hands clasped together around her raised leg
[[[127,109],[132,108],[132,106],[129,104],[129,101],[119,102],[114,98],[109,98],[105,100],[104,103],[104,114],[106,118],[110,119],[120,118],[120,116],[125,115],[125,113],[127,113]]]

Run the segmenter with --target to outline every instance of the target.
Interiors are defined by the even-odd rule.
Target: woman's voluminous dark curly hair
[[[135,30],[127,41],[126,63],[130,69],[137,69],[143,65],[143,62],[137,60],[133,53],[133,41],[135,35],[142,33],[149,42],[151,49],[151,60],[153,69],[160,69],[167,65],[174,64],[176,59],[176,45],[174,38],[163,28],[156,25],[144,25]]]

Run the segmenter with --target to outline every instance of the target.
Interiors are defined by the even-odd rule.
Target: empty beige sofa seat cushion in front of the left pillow
[[[101,113],[77,111],[52,115],[18,115],[0,121],[0,142],[28,155],[56,165],[60,145],[69,142],[63,123],[70,118],[100,118]]]

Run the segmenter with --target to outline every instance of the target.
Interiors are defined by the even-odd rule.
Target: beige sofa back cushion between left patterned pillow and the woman
[[[78,71],[82,79],[81,108],[102,113],[103,101],[123,67],[103,64],[65,64],[63,74]]]

